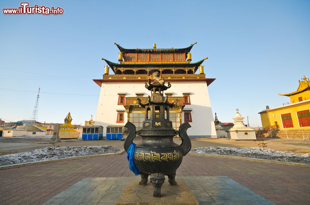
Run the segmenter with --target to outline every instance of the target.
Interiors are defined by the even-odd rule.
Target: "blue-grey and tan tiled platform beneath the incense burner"
[[[151,183],[139,186],[139,180],[139,178],[132,179],[132,177],[84,178],[43,205],[197,204],[198,202],[208,205],[274,204],[227,176],[178,177],[176,179],[178,186],[171,187],[169,183],[162,185],[160,198],[152,197]],[[167,177],[166,180],[168,180]],[[125,192],[123,192],[124,188]],[[184,193],[184,190],[189,193]]]

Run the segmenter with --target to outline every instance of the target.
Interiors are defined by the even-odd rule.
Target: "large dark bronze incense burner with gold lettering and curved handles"
[[[151,91],[151,96],[145,102],[138,103],[145,108],[145,120],[143,128],[136,131],[135,125],[127,122],[125,127],[128,129],[128,135],[124,142],[124,148],[127,151],[136,134],[142,137],[142,142],[135,146],[133,161],[135,166],[141,172],[140,185],[145,185],[148,176],[151,175],[153,185],[153,196],[161,196],[161,187],[165,181],[165,175],[168,176],[170,185],[177,185],[175,181],[175,172],[179,168],[183,156],[191,150],[191,141],[186,133],[191,126],[189,123],[180,125],[179,130],[172,128],[172,122],[169,120],[169,108],[175,106],[177,101],[168,102],[168,97],[163,95],[163,91],[171,87],[165,85],[164,79],[159,78],[159,73],[154,73],[154,82],[148,79],[145,88]],[[173,142],[173,137],[179,134],[182,139],[181,145]]]

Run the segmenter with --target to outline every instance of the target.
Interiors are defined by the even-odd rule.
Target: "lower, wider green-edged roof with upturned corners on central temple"
[[[113,72],[114,71],[114,67],[116,68],[156,68],[156,67],[159,67],[159,68],[193,68],[195,67],[195,72],[196,70],[198,69],[198,66],[201,65],[201,63],[203,63],[203,61],[207,59],[207,58],[204,58],[200,61],[197,61],[195,63],[187,63],[187,62],[184,62],[184,63],[113,63],[111,61],[108,61],[107,59],[102,59],[104,60],[105,62],[108,63],[108,65],[110,66],[110,68],[112,68]]]

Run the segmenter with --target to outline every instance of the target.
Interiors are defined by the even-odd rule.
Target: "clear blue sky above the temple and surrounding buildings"
[[[261,126],[259,111],[289,101],[310,77],[310,1],[29,1],[63,15],[0,15],[0,117],[38,121],[95,117],[104,61],[125,48],[184,48],[205,73],[213,113],[232,122],[236,108]],[[1,1],[17,8],[20,1]],[[7,69],[3,69],[7,68]],[[10,70],[11,69],[11,70]],[[24,71],[24,72],[20,72]],[[32,92],[29,92],[32,91]],[[56,93],[56,94],[52,94]],[[70,95],[63,95],[70,94]]]

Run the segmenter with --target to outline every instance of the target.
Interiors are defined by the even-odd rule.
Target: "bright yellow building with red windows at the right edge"
[[[263,128],[274,126],[281,129],[310,129],[310,81],[303,76],[298,89],[287,94],[290,102],[280,107],[269,108],[259,112]]]

